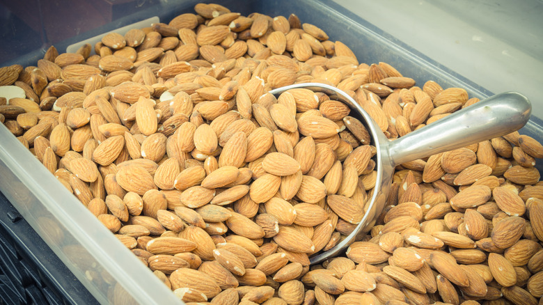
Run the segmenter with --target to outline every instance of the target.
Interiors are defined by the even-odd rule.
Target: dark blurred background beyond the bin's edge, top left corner
[[[159,0],[0,0],[0,64],[98,29]],[[65,49],[58,49],[59,53]]]

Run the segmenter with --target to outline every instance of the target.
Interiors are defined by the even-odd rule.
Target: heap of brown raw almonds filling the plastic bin
[[[389,139],[478,99],[359,63],[296,15],[194,9],[0,68],[26,94],[0,97],[3,125],[180,299],[542,304],[540,143],[513,132],[401,164],[369,234],[310,266],[365,214],[375,147],[335,97],[268,91],[337,86]]]

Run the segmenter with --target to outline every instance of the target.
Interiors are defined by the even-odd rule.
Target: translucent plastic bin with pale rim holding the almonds
[[[63,1],[51,2],[63,3]],[[116,31],[123,26],[150,17],[157,16],[162,22],[168,22],[181,13],[193,12],[194,5],[198,2],[141,1],[140,3],[140,1],[134,1],[132,5],[141,4],[141,8],[116,10],[110,14],[111,20],[107,24],[89,29],[54,45],[60,52],[65,52],[69,45],[76,42],[109,31]],[[290,13],[295,13],[302,22],[315,24],[324,29],[331,40],[345,42],[361,62],[390,63],[402,74],[414,78],[420,86],[427,80],[434,80],[443,88],[452,86],[465,88],[470,97],[485,98],[491,95],[485,88],[443,68],[439,63],[395,40],[332,1],[218,0],[214,2],[242,15],[259,12],[271,16],[288,17]],[[126,1],[123,3],[122,7],[129,6]],[[68,4],[63,3],[63,5]],[[67,23],[64,26],[70,28],[76,25]],[[13,46],[15,51],[20,52],[20,56],[4,61],[1,65],[12,63],[24,66],[36,65],[48,46],[33,48],[31,43],[31,40],[21,38],[19,43]],[[29,49],[33,51],[28,52]],[[532,118],[521,133],[542,141],[541,122],[540,118]],[[541,165],[539,169],[541,170]],[[96,302],[101,304],[181,303],[26,148],[20,145],[3,125],[0,126],[0,191],[47,243],[54,255],[72,272],[73,275],[66,270],[42,274],[51,283],[58,283],[51,285],[52,289],[66,288],[65,285],[68,282],[66,279],[72,279],[75,276],[77,281],[93,295]],[[3,210],[3,213],[5,212],[7,211]],[[22,247],[24,247],[24,242],[33,243],[32,238],[35,237],[28,237],[33,236],[30,230],[13,232],[17,236],[26,236],[15,239],[15,242],[22,244]],[[45,252],[47,251],[45,248],[47,247],[34,251]],[[39,257],[41,253],[34,252],[31,253],[32,255]],[[42,263],[40,268],[47,269],[47,264]],[[58,295],[64,295],[68,303],[95,302],[91,298],[81,297],[77,289],[66,288]]]

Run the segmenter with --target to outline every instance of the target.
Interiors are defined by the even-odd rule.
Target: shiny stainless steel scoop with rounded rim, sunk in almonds
[[[356,235],[372,228],[375,219],[384,209],[395,166],[519,130],[528,122],[532,109],[530,101],[524,95],[514,92],[500,93],[391,141],[357,102],[333,86],[318,83],[294,84],[276,88],[269,93],[279,95],[292,88],[308,88],[315,92],[336,95],[338,100],[349,105],[355,113],[358,112],[357,118],[368,129],[372,137],[371,144],[377,148],[377,182],[372,198],[368,199],[368,212],[345,240],[329,251],[310,258],[311,264],[338,256],[354,242]],[[356,117],[356,114],[352,113],[352,116]]]

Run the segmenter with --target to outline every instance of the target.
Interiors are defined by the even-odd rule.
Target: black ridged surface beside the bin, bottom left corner
[[[0,211],[3,304],[97,304],[1,193]]]

